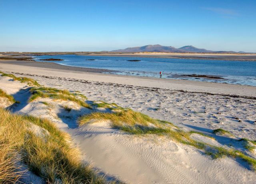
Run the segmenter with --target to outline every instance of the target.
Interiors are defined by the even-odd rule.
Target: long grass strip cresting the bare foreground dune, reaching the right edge
[[[185,132],[180,128],[174,126],[170,122],[156,120],[140,112],[134,112],[130,109],[122,110],[121,112],[102,113],[94,112],[87,114],[78,119],[80,125],[96,122],[99,120],[110,120],[112,128],[117,128],[129,134],[145,135],[155,134],[158,136],[167,136],[176,142],[194,146],[198,149],[204,150],[206,154],[211,155],[212,158],[220,158],[229,156],[233,158],[240,158],[246,161],[254,170],[256,170],[256,160],[238,150],[228,150],[226,148],[212,146],[210,144],[193,140],[190,138],[192,133],[207,136],[201,132]],[[210,136],[208,136],[210,137]],[[212,138],[212,137],[210,137]]]

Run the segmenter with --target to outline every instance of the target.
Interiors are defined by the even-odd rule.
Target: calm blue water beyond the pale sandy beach
[[[162,78],[178,78],[256,86],[256,62],[252,61],[79,55],[35,56],[36,61],[47,58],[63,59],[64,61],[48,62],[55,62],[67,66],[115,70],[116,72],[108,72],[112,74],[159,77],[159,72],[162,71]],[[141,61],[132,62],[128,60]],[[212,75],[224,79],[181,76],[184,74]]]

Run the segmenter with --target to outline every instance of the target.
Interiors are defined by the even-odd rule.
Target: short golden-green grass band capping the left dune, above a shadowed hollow
[[[55,100],[70,100],[75,102],[76,104],[85,107],[92,108],[89,104],[84,102],[85,96],[78,98],[77,94],[71,93],[68,90],[58,90],[56,88],[48,88],[48,87],[33,87],[30,89],[32,95],[29,98],[29,102],[33,102],[37,98],[53,98]]]

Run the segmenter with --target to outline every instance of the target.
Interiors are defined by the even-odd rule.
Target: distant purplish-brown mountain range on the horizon
[[[172,52],[172,53],[245,53],[245,52],[234,52],[234,51],[212,51],[204,48],[196,48],[192,45],[175,48],[172,46],[162,45],[146,45],[141,47],[128,47],[125,49],[112,50],[110,52]]]

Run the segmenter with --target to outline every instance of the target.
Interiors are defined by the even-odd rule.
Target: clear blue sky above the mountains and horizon
[[[256,0],[0,0],[0,52],[149,44],[256,52]]]

